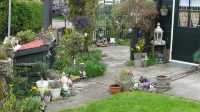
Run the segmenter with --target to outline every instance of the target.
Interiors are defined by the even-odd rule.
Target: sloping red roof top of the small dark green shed
[[[18,51],[26,50],[26,49],[32,49],[32,48],[38,48],[38,47],[41,47],[43,45],[45,45],[45,41],[44,40],[36,39],[36,40],[33,40],[33,41],[29,42],[29,43],[21,45],[21,47],[18,49]]]

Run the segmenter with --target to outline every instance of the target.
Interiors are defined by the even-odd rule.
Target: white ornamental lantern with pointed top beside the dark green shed
[[[165,45],[166,42],[163,40],[163,29],[160,27],[160,23],[157,23],[157,27],[154,30],[154,40],[152,40],[153,45]]]

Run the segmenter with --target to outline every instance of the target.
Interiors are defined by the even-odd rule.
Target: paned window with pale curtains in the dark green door
[[[200,27],[200,0],[179,1],[179,26]]]

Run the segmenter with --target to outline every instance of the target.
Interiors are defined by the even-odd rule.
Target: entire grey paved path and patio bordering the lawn
[[[114,82],[115,76],[117,76],[121,69],[124,68],[133,70],[136,77],[140,77],[142,75],[152,80],[154,80],[158,75],[168,75],[172,79],[176,80],[180,77],[182,78],[187,76],[186,73],[192,70],[191,66],[183,66],[174,63],[155,65],[146,68],[127,67],[125,66],[125,62],[129,60],[129,48],[127,46],[110,46],[99,49],[101,49],[106,55],[106,57],[103,57],[103,63],[107,65],[105,75],[89,79],[87,81],[78,82],[76,86],[81,86],[82,88],[79,93],[76,96],[68,98],[67,100],[50,103],[48,105],[48,112],[57,112],[61,109],[74,108],[87,104],[91,101],[109,97],[109,84]],[[197,74],[176,80],[173,82],[173,89],[169,91],[169,94],[200,99],[199,80],[200,75]],[[198,83],[198,85],[195,83]],[[185,90],[185,88],[188,89]],[[193,91],[194,93],[189,94]]]

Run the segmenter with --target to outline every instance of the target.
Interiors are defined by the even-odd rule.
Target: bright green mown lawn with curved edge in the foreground
[[[200,112],[200,102],[135,91],[60,112]]]

